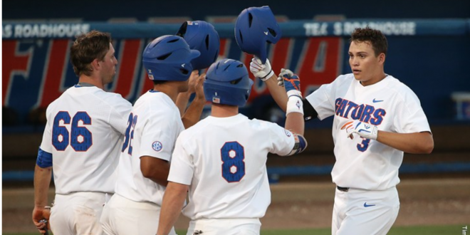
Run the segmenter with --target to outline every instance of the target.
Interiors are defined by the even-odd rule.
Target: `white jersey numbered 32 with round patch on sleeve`
[[[179,110],[168,95],[150,90],[135,102],[127,124],[130,137],[122,147],[116,194],[161,205],[165,187],[142,175],[140,157],[171,160],[174,142],[184,130]]]

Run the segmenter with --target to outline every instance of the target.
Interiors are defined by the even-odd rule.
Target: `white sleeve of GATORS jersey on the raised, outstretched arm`
[[[318,113],[318,119],[323,120],[335,114],[335,87],[338,83],[336,78],[333,83],[321,85],[305,98]]]

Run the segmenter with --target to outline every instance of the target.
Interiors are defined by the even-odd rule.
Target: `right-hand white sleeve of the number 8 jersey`
[[[280,156],[288,155],[296,144],[293,133],[275,123],[271,123],[270,132],[272,146],[269,152]]]

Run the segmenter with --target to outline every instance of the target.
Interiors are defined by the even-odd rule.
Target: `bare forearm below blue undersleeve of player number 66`
[[[48,204],[49,184],[51,184],[52,167],[41,168],[36,164],[34,169],[34,206],[44,208]]]

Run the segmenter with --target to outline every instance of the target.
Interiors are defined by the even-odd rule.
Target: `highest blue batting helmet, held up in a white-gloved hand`
[[[266,43],[277,43],[281,39],[281,28],[269,6],[241,11],[235,23],[235,39],[241,51],[266,63]]]

